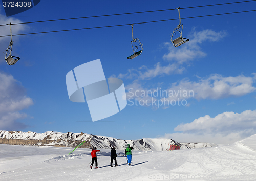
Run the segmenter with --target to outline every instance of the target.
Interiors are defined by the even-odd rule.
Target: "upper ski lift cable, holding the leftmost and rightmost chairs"
[[[247,2],[253,2],[253,1],[256,1],[256,0],[231,2],[231,3],[221,3],[221,4],[213,4],[213,5],[193,6],[193,7],[185,7],[185,8],[180,8],[180,9],[201,8],[201,7],[219,6],[219,5],[236,4],[236,3],[247,3]],[[32,24],[32,23],[37,23],[37,22],[51,22],[51,21],[73,20],[73,19],[93,18],[93,17],[118,16],[118,15],[149,13],[149,12],[160,12],[160,11],[170,11],[170,10],[176,10],[176,9],[177,8],[174,8],[174,9],[163,9],[163,10],[153,10],[153,11],[141,11],[141,12],[132,12],[132,13],[120,13],[120,14],[108,14],[108,15],[98,15],[98,16],[87,16],[87,17],[75,17],[75,18],[66,18],[66,19],[53,19],[53,20],[32,21],[32,22],[19,22],[19,23],[15,23],[15,24],[12,24],[12,25]],[[0,25],[0,26],[6,26],[6,25],[9,25],[9,24],[3,24],[3,25]]]

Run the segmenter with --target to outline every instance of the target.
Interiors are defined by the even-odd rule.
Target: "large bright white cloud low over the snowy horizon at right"
[[[205,115],[191,123],[179,124],[174,131],[179,132],[164,137],[173,137],[179,142],[230,144],[256,134],[256,110],[245,110],[240,114],[223,112],[214,118]]]

